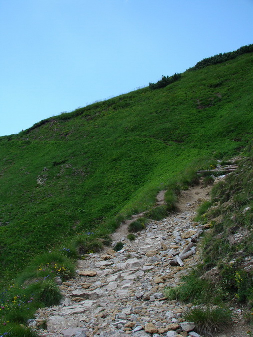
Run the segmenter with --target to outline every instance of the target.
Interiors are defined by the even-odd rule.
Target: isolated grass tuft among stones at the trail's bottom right
[[[232,324],[231,311],[217,306],[190,308],[184,313],[184,318],[194,322],[196,331],[204,336],[225,331]]]

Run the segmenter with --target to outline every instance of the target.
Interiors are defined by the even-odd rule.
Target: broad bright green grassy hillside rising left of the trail
[[[243,148],[252,92],[247,53],[1,137],[1,280],[69,237],[115,229],[110,219],[148,209],[189,167]]]

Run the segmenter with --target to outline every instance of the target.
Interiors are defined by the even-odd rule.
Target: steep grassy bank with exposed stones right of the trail
[[[214,185],[211,201],[197,219],[209,227],[202,238],[203,263],[168,288],[168,299],[192,303],[235,301],[253,306],[253,153],[251,146],[238,169]]]

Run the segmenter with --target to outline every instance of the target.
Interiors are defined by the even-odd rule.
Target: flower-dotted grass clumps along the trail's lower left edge
[[[0,335],[37,336],[25,325],[39,307],[59,304],[62,294],[55,283],[74,277],[75,263],[64,251],[37,256],[15,283],[0,292]],[[4,335],[4,336],[5,336]]]

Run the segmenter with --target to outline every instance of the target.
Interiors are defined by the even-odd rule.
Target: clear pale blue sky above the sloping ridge
[[[0,0],[0,136],[253,43],[253,0]]]

